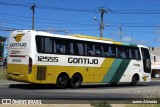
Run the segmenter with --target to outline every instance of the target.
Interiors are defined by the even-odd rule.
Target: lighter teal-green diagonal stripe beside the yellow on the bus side
[[[109,71],[106,73],[105,77],[103,78],[102,82],[110,82],[113,78],[114,74],[116,73],[118,67],[120,66],[122,59],[115,59],[113,64],[111,65]]]

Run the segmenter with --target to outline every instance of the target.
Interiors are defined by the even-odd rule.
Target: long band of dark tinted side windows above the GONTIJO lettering
[[[140,60],[138,47],[36,36],[38,53],[110,57]]]

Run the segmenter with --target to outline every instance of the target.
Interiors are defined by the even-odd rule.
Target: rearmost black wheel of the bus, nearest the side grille
[[[67,75],[59,75],[56,81],[57,88],[63,89],[66,88],[68,85],[68,76]]]

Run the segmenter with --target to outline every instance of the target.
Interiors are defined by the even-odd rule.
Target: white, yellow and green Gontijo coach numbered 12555
[[[10,35],[8,54],[8,78],[15,81],[79,88],[151,80],[146,46],[107,38],[17,30]]]

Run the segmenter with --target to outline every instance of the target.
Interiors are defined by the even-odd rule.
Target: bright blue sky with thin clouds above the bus
[[[121,34],[124,43],[160,47],[160,0],[0,0],[0,35],[32,29],[32,4],[35,30],[99,37],[103,7],[104,38],[120,41]]]

